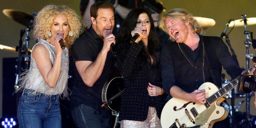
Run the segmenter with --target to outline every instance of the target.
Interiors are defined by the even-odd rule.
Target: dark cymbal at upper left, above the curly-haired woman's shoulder
[[[28,13],[24,13],[21,11],[13,10],[13,9],[4,9],[3,13],[7,17],[15,20],[16,22],[24,26],[30,26],[32,22],[31,20],[33,20],[33,15],[30,15]]]

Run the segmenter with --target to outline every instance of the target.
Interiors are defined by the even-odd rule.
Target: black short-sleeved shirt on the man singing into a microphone
[[[94,31],[92,26],[85,30],[84,33],[74,42],[71,55],[75,61],[92,61],[94,62],[102,50],[103,40]],[[101,76],[92,87],[84,84],[79,75],[75,64],[73,64],[73,88],[71,93],[71,109],[79,104],[85,104],[95,109],[102,105],[102,88],[111,77],[113,55],[109,51]]]

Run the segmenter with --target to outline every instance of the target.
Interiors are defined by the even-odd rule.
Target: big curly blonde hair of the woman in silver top
[[[74,43],[75,39],[78,38],[82,24],[79,20],[79,16],[73,9],[70,9],[66,5],[47,5],[42,10],[40,10],[35,16],[33,25],[34,25],[34,36],[36,39],[46,40],[49,37],[47,33],[51,28],[51,24],[53,23],[56,14],[65,15],[68,19],[68,24],[70,27],[70,31],[73,32],[73,36],[67,35],[65,45],[70,48],[70,46]]]

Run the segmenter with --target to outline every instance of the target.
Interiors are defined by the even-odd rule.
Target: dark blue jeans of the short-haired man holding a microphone
[[[104,118],[94,108],[79,104],[71,110],[72,118],[78,128],[107,128],[110,118]]]

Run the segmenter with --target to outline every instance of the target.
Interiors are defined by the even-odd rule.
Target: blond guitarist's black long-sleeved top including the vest
[[[203,82],[212,82],[220,88],[222,66],[233,79],[241,75],[243,69],[234,61],[221,38],[201,35],[199,37],[199,49],[196,49],[195,53],[191,52],[188,46],[185,46],[186,44],[179,44],[188,59],[179,49],[177,42],[166,44],[163,47],[160,59],[161,74],[163,90],[168,95],[170,95],[170,88],[174,85],[188,93],[198,89]],[[203,57],[203,43],[205,57]],[[203,58],[205,58],[204,63]]]

